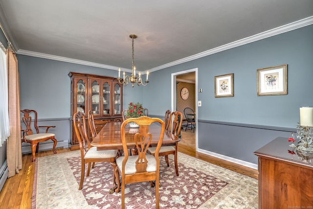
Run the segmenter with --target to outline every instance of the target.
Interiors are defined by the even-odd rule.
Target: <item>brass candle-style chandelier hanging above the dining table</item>
[[[125,76],[125,71],[123,72],[123,79],[120,77],[121,75],[121,69],[118,69],[118,82],[120,84],[123,84],[124,86],[126,86],[129,83],[132,83],[132,87],[134,87],[134,83],[137,84],[138,86],[142,85],[142,86],[147,86],[147,84],[149,83],[148,81],[148,75],[149,75],[149,71],[147,71],[147,79],[145,80],[145,84],[143,84],[142,82],[142,78],[141,78],[141,73],[138,73],[138,77],[136,77],[136,67],[134,66],[134,39],[137,38],[136,35],[131,34],[129,35],[129,37],[132,39],[132,76]]]

